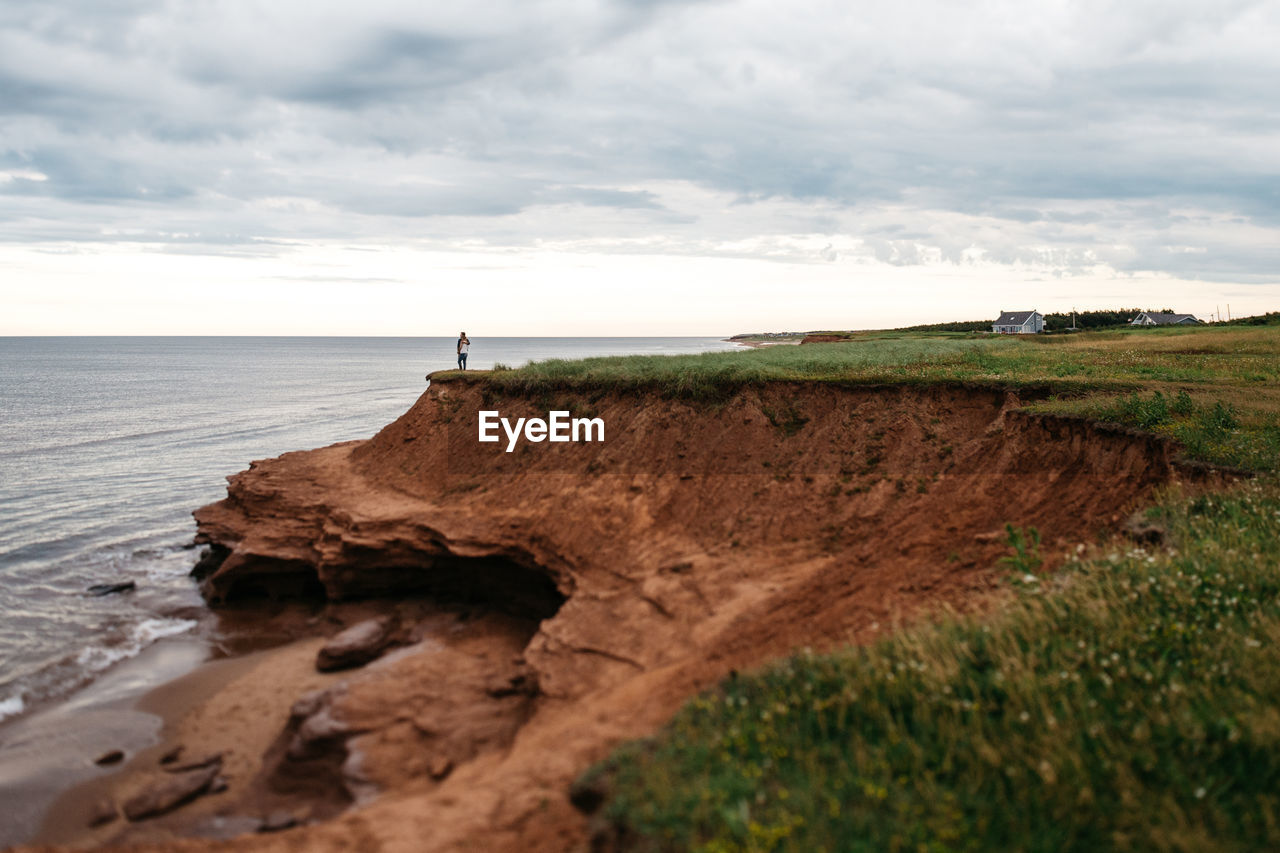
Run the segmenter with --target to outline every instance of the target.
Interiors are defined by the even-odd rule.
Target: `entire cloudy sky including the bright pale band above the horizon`
[[[4,0],[0,334],[1280,310],[1280,3]]]

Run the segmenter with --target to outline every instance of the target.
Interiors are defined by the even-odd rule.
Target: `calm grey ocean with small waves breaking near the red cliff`
[[[732,348],[477,336],[468,366]],[[453,338],[0,338],[0,720],[196,626],[191,512],[227,475],[367,438],[454,361]]]

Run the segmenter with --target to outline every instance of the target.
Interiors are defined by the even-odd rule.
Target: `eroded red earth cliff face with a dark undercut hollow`
[[[955,387],[780,383],[698,403],[435,382],[369,441],[255,462],[196,514],[223,557],[211,602],[301,584],[493,613],[480,652],[420,635],[296,708],[302,740],[280,751],[311,756],[310,731],[333,762],[340,736],[346,795],[365,807],[293,830],[289,849],[580,844],[571,780],[691,693],[984,606],[1006,523],[1038,528],[1052,567],[1185,475],[1158,437],[1018,406]],[[508,453],[476,441],[481,409],[602,418],[605,441]]]

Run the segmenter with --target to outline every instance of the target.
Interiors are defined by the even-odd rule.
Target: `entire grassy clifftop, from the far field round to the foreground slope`
[[[579,783],[607,792],[600,817],[635,849],[1280,849],[1280,328],[868,333],[486,379],[713,401],[765,380],[1034,387],[1033,409],[1260,473],[1166,493],[1161,544],[1093,546],[1052,576],[1010,530],[995,613],[799,653],[692,699]]]

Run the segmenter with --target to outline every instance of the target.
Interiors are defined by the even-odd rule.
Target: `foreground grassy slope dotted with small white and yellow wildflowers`
[[[995,613],[726,681],[581,784],[636,849],[1277,849],[1280,483],[1149,515],[1052,579],[1012,532]]]

